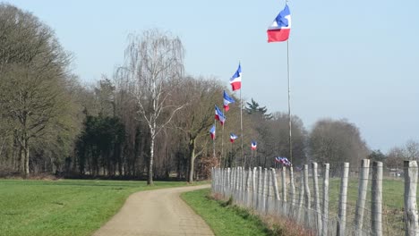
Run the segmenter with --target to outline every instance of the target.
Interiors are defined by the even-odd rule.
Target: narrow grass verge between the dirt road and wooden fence
[[[237,206],[209,198],[209,189],[185,192],[182,198],[216,235],[268,235],[261,220]]]

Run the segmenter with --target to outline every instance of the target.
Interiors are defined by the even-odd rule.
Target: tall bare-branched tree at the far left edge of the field
[[[12,123],[19,169],[27,176],[32,141],[65,129],[70,57],[53,30],[9,4],[0,4],[0,48],[0,110]]]

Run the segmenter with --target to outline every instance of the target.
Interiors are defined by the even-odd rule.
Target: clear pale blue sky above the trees
[[[188,74],[227,85],[240,62],[244,99],[287,112],[286,43],[268,44],[266,36],[285,0],[7,2],[55,30],[86,83],[124,63],[129,34],[158,28],[181,38]],[[288,5],[291,111],[306,129],[345,118],[372,149],[419,141],[419,1]]]

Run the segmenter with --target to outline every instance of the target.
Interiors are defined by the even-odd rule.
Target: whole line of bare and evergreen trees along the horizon
[[[233,95],[224,134],[217,127],[214,156],[214,105],[222,107],[229,89],[216,78],[185,74],[184,46],[170,32],[129,38],[115,72],[83,85],[53,30],[31,13],[0,4],[2,175],[146,178],[152,184],[206,178],[212,166],[274,166],[275,156],[288,155],[288,115],[269,114],[253,99],[243,107],[244,155],[229,142],[230,132],[240,136],[240,103]],[[354,123],[322,119],[307,131],[298,116],[291,119],[295,165],[355,164],[374,154]]]

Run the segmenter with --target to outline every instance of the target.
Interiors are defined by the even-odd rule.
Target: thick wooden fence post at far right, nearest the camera
[[[405,235],[419,235],[417,215],[416,189],[417,189],[417,162],[405,161]]]

